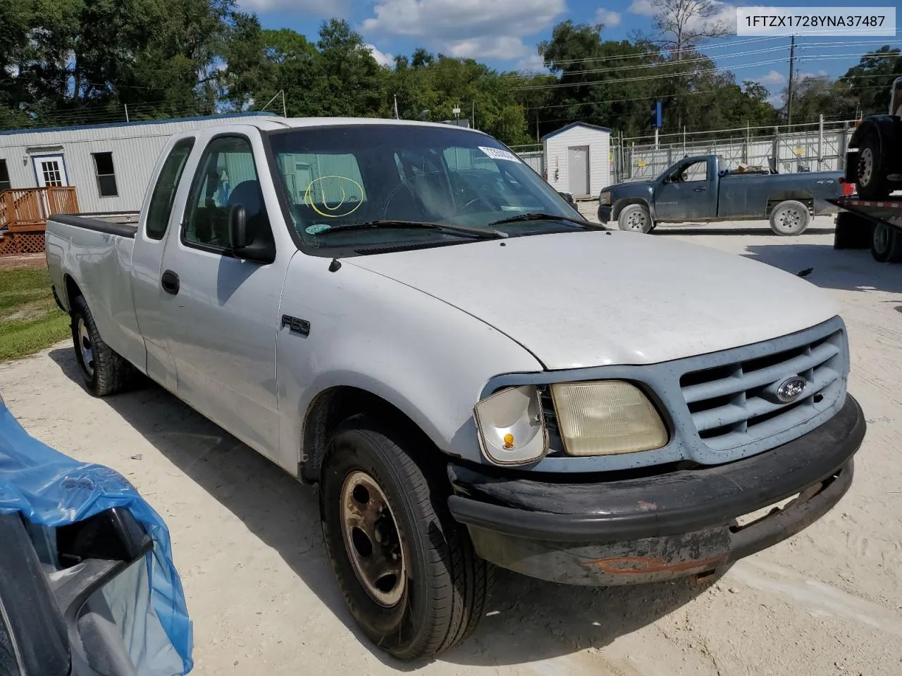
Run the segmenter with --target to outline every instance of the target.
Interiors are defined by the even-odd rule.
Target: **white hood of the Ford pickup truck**
[[[506,333],[547,369],[648,364],[758,343],[830,319],[795,275],[665,237],[576,232],[359,256]]]

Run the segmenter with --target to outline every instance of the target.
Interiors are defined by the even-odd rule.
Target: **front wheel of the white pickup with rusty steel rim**
[[[476,556],[469,534],[447,511],[447,492],[441,489],[446,480],[424,473],[405,450],[422,445],[372,417],[353,416],[333,435],[320,480],[323,537],[345,603],[364,635],[400,660],[432,657],[462,642],[485,614],[493,579],[492,566]],[[360,485],[366,492],[358,497]],[[380,553],[386,543],[400,543],[391,545],[392,553],[400,552],[400,564],[378,553],[371,558],[376,546],[365,534],[358,545],[364,528],[345,526],[355,517],[345,507],[352,503],[370,512],[374,504],[387,505],[400,536],[396,541],[391,528],[382,527],[384,519],[373,533],[381,535],[375,538]],[[379,513],[385,515],[384,507]],[[382,575],[369,585],[374,593],[368,590],[366,574],[358,575],[356,568],[372,569],[380,560],[400,565],[403,589],[380,586],[393,579]],[[377,601],[380,592],[395,596]]]

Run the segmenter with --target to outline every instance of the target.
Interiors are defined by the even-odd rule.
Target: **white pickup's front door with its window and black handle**
[[[228,213],[235,205],[244,206],[254,237],[272,237],[269,214],[278,213],[278,206],[262,196],[262,157],[256,130],[209,139],[191,179],[178,236],[167,238],[158,283],[179,398],[274,458],[275,343],[290,253],[277,253],[270,264],[240,260],[228,240]]]

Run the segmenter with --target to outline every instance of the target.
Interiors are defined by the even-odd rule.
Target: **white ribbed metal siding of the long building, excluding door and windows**
[[[138,211],[153,166],[172,134],[250,119],[259,120],[260,116],[216,116],[208,120],[0,134],[0,160],[6,160],[12,187],[37,187],[32,157],[62,155],[69,185],[76,187],[78,208],[82,213]],[[113,153],[118,196],[100,196],[94,158],[91,157],[95,152]]]

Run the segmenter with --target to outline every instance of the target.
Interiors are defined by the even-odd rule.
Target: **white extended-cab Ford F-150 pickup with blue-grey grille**
[[[136,227],[58,215],[46,248],[88,390],[140,371],[318,482],[347,606],[401,659],[473,631],[492,564],[723,570],[833,507],[865,434],[820,289],[590,224],[482,132],[180,133]]]

